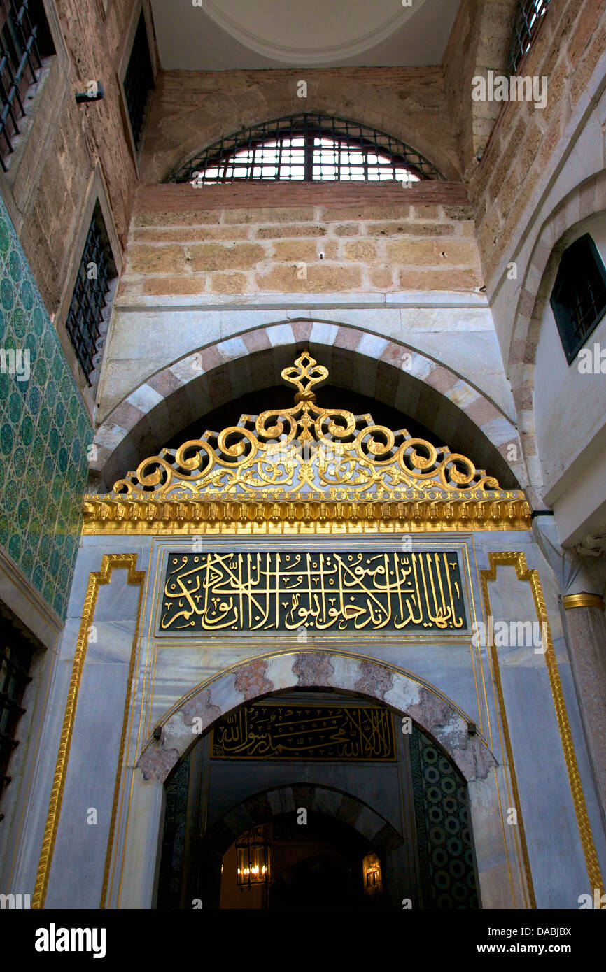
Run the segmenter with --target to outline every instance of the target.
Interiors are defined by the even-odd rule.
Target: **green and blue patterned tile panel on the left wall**
[[[0,349],[0,544],[63,619],[92,427],[2,199]]]

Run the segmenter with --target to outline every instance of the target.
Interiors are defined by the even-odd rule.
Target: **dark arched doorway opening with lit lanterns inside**
[[[240,706],[164,788],[160,910],[479,906],[465,780],[409,717],[359,694]]]

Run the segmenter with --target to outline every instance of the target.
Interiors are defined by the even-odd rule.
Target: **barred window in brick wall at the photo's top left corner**
[[[5,172],[23,132],[33,86],[53,53],[42,0],[0,0],[0,165]]]

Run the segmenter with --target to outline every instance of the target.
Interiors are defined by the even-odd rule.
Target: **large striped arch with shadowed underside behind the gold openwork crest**
[[[469,456],[504,488],[525,487],[516,427],[468,381],[393,339],[303,320],[247,330],[202,347],[139,385],[97,429],[90,488],[111,491],[117,479],[157,454],[181,429],[199,419],[202,434],[205,414],[248,392],[280,384],[282,369],[305,347],[328,367],[333,385],[410,416],[432,431],[437,444]],[[345,396],[324,401],[321,390],[318,400],[327,407],[347,407]],[[233,424],[238,419],[234,415]]]

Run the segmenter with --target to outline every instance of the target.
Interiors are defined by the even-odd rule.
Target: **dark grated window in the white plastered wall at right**
[[[588,233],[564,250],[551,304],[571,364],[606,313],[606,267]]]

